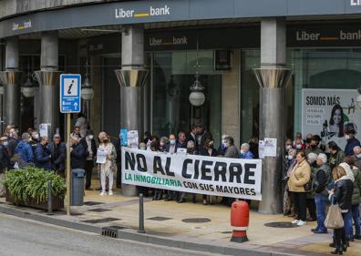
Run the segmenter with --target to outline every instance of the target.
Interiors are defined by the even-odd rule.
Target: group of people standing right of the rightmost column
[[[344,150],[335,141],[323,145],[321,138],[312,134],[307,134],[305,141],[300,133],[285,141],[284,215],[294,218],[292,222],[298,226],[316,221],[312,231],[327,233],[327,205],[337,204],[345,224],[334,230],[333,254],[342,254],[350,241],[361,240],[361,145],[353,123],[346,124],[344,133]]]

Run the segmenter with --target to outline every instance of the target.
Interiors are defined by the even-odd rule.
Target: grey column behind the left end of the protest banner
[[[148,77],[144,68],[144,28],[128,26],[122,34],[121,69],[115,70],[120,85],[120,128],[143,133],[141,118],[141,87]],[[135,196],[135,186],[123,185],[122,193]]]

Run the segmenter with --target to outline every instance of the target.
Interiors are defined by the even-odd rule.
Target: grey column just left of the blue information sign
[[[57,31],[41,34],[40,70],[36,71],[39,83],[39,124],[50,124],[48,136],[59,127],[59,72]]]

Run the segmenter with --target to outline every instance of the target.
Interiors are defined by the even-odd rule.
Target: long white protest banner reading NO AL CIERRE
[[[230,198],[262,200],[261,159],[227,159],[121,148],[122,182]]]

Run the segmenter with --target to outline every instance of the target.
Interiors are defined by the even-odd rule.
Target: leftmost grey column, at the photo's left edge
[[[5,71],[0,72],[4,84],[5,124],[20,126],[20,83],[19,42],[17,37],[9,37],[5,48]]]

